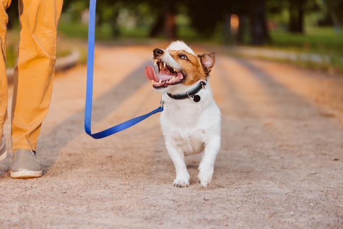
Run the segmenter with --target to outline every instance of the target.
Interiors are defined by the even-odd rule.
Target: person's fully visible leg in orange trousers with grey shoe
[[[40,177],[38,135],[50,105],[63,0],[19,0],[20,43],[12,100],[12,178]]]

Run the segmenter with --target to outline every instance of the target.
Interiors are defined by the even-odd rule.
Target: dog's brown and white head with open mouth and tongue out
[[[166,50],[154,49],[157,73],[147,66],[145,74],[155,89],[192,85],[206,79],[215,63],[215,53],[197,55],[182,41],[172,42]]]

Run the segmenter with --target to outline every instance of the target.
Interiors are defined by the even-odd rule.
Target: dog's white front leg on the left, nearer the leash
[[[180,149],[175,148],[170,142],[171,141],[166,141],[166,147],[176,170],[176,178],[174,179],[173,185],[175,187],[187,187],[190,185],[190,176],[187,172],[184,154]]]

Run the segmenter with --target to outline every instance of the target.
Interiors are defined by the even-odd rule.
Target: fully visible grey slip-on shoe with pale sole
[[[12,178],[38,178],[42,176],[42,164],[31,150],[16,150],[11,166]]]

